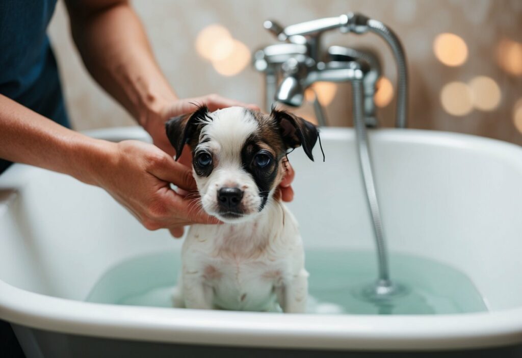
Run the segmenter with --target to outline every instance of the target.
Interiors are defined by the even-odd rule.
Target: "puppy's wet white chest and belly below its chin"
[[[205,232],[208,227],[204,229],[191,232],[193,243],[188,245],[184,261],[212,289],[213,303],[224,309],[273,309],[277,288],[291,275],[286,247],[249,230],[211,234]]]

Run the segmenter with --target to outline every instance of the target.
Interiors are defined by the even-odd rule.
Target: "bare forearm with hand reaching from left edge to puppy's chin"
[[[0,94],[0,158],[69,174],[105,189],[146,228],[217,223],[194,210],[170,183],[195,189],[192,172],[157,147],[135,140],[112,143],[62,127]]]

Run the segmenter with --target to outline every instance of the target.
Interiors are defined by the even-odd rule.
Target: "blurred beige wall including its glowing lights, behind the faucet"
[[[358,11],[392,28],[405,47],[410,73],[409,128],[447,130],[522,145],[521,0],[135,0],[157,61],[179,97],[207,93],[263,106],[263,76],[253,53],[281,25]],[[67,108],[78,130],[135,122],[88,76],[76,52],[63,2],[50,36],[60,64]],[[383,77],[375,101],[381,126],[395,121],[396,68],[374,34],[333,31],[323,45],[370,49]],[[316,83],[331,125],[352,126],[350,86]],[[313,96],[307,96],[308,98]],[[310,102],[295,111],[315,121]]]

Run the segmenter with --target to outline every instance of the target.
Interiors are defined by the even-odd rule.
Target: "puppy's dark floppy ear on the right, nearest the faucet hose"
[[[271,116],[279,126],[281,137],[287,149],[302,146],[308,158],[313,161],[312,149],[319,136],[317,127],[287,111],[272,109]]]

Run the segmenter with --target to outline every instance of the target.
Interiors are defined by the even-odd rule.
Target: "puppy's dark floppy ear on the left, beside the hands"
[[[176,160],[180,159],[185,144],[198,132],[198,126],[209,120],[208,113],[207,106],[200,105],[195,112],[172,117],[165,123],[167,138],[176,150]]]

